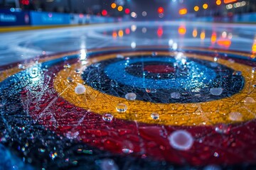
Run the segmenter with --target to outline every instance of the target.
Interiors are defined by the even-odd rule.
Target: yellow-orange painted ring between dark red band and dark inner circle
[[[174,52],[158,52],[159,55],[173,56]],[[136,55],[151,55],[151,52],[126,52],[121,54],[124,57],[133,57]],[[186,54],[187,57],[193,57],[201,60],[213,61],[213,57],[203,55]],[[229,119],[229,113],[239,112],[242,114],[241,121],[252,120],[255,118],[256,107],[252,104],[244,103],[246,97],[256,98],[256,91],[252,84],[256,81],[252,74],[252,67],[230,62],[228,60],[218,59],[220,64],[224,64],[234,70],[242,72],[245,78],[245,86],[240,93],[216,101],[202,103],[150,103],[144,101],[127,101],[125,98],[110,96],[100,91],[92,89],[85,85],[86,93],[84,95],[75,94],[75,86],[82,84],[80,74],[74,72],[75,69],[83,69],[90,64],[108,60],[116,57],[116,54],[102,55],[86,60],[87,64],[73,64],[70,69],[61,70],[54,81],[54,88],[65,100],[73,103],[75,106],[85,108],[94,113],[112,113],[114,118],[124,120],[137,120],[141,123],[157,123],[162,125],[215,125],[218,123],[235,123]],[[75,79],[75,83],[67,81],[68,77]],[[125,113],[118,113],[116,106],[118,103],[127,105]],[[153,120],[151,113],[158,113],[159,120]]]

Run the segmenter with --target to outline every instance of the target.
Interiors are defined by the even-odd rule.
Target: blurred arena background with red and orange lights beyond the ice
[[[48,23],[41,23],[43,25],[50,24],[50,20],[52,24],[174,20],[256,21],[255,0],[0,0],[0,10],[0,26],[34,26],[36,23],[33,18],[38,20],[38,15],[42,15],[44,12],[48,12],[48,16],[42,16]],[[20,16],[16,16],[16,13]],[[56,16],[53,13],[68,13],[70,16],[63,18],[63,16]],[[24,22],[15,23],[14,16],[16,16],[16,20]],[[93,18],[93,16],[97,16],[97,18]],[[104,17],[110,18],[110,21]],[[60,22],[60,20],[67,19],[70,21]]]

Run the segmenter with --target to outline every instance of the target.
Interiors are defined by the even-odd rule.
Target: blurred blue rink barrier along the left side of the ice
[[[113,23],[112,17],[93,16],[76,13],[54,13],[0,9],[0,26],[67,26],[89,23]]]

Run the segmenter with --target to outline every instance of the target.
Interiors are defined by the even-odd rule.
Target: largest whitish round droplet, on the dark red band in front
[[[178,150],[188,150],[193,145],[193,137],[186,130],[176,130],[168,137],[171,147]]]

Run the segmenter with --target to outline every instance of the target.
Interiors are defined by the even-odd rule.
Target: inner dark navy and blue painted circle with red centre
[[[169,55],[127,55],[124,59],[114,58],[91,64],[82,77],[85,84],[102,93],[124,97],[127,91],[132,91],[137,94],[137,100],[152,103],[213,101],[232,96],[242,89],[242,75],[234,77],[233,69],[219,63],[212,65],[213,62],[193,58],[179,63]],[[210,90],[216,88],[225,91],[221,95],[214,95]],[[145,97],[145,89],[156,91]],[[176,91],[180,94],[178,98],[170,96]],[[188,97],[196,94],[200,96]]]

